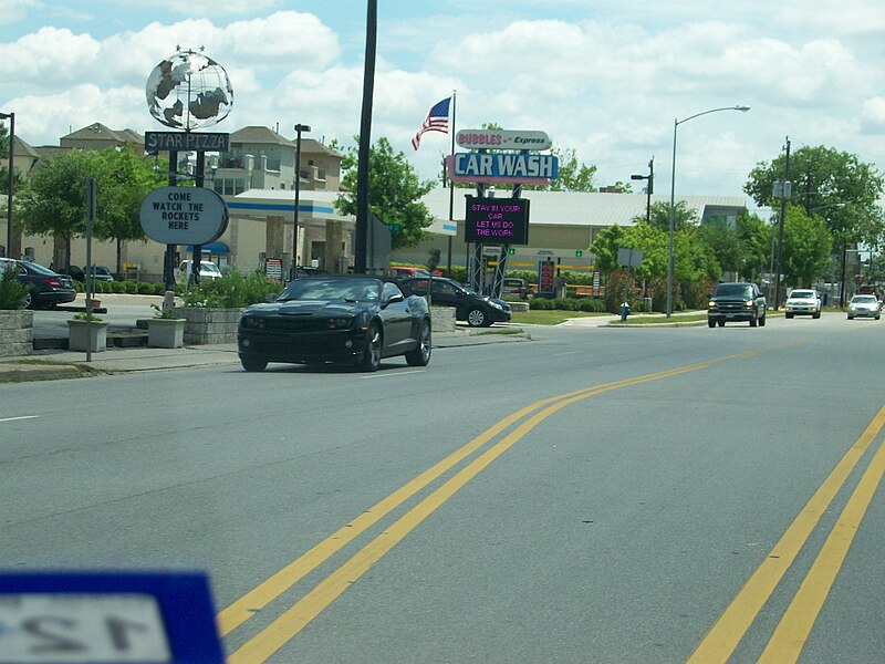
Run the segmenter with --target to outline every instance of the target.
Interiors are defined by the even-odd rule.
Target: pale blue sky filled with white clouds
[[[646,175],[678,195],[745,196],[748,174],[804,145],[885,172],[881,0],[377,0],[372,141],[423,179],[450,137],[410,141],[456,95],[457,131],[494,123],[545,132],[597,167],[595,184]],[[367,2],[362,0],[3,0],[0,111],[31,145],[94,122],[165,127],[145,83],[177,46],[219,62],[235,91],[208,131],[263,125],[353,145],[360,132]],[[750,106],[747,113],[712,108]],[[641,191],[644,183],[634,183]],[[754,204],[747,197],[751,209]]]

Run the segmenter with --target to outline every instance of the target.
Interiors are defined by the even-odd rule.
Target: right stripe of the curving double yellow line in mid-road
[[[361,551],[342,564],[337,570],[323,580],[314,590],[309,592],[301,601],[288,609],[277,620],[269,624],[263,631],[244,643],[237,652],[228,657],[228,664],[258,664],[267,661],[273,653],[292,640],[303,630],[314,618],[324,611],[335,599],[337,599],[350,585],[368,571],[373,564],[381,560],[391,549],[400,542],[409,532],[429,517],[438,507],[446,502],[451,496],[460,490],[467,483],[473,479],[479,473],[487,468],[494,459],[510,449],[517,442],[522,439],[541,422],[575,402],[625,387],[638,385],[664,377],[675,376],[691,371],[698,371],[709,366],[709,362],[698,363],[687,367],[675,369],[666,372],[658,372],[647,376],[639,376],[626,381],[618,381],[608,385],[592,390],[572,393],[573,396],[561,398],[559,402],[548,405],[543,411],[531,416],[529,419],[517,426],[510,434],[500,442],[477,457],[468,466],[448,479],[433,494],[427,496],[418,505],[412,508],[387,530],[366,544]],[[548,403],[551,400],[545,400]],[[531,407],[531,406],[530,406]]]

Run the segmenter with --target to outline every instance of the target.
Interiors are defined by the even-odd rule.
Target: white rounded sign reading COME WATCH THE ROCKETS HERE
[[[160,187],[145,196],[142,229],[164,245],[208,245],[227,230],[228,207],[211,189]]]

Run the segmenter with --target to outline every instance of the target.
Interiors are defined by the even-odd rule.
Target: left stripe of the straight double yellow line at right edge
[[[818,488],[780,541],[756,570],[725,613],[714,624],[688,658],[688,664],[728,662],[753,620],[768,601],[783,574],[795,560],[821,517],[847,480],[864,453],[885,426],[885,406],[845,453],[832,473]]]

